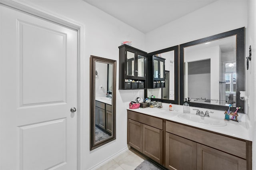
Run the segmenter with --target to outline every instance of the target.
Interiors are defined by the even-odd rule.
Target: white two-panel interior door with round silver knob
[[[77,169],[77,31],[0,6],[0,169]]]

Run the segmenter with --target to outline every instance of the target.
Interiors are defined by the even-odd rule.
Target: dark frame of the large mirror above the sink
[[[192,42],[184,43],[180,45],[180,105],[184,103],[184,48],[200,43],[206,43],[213,40],[218,40],[230,36],[236,36],[236,107],[241,107],[240,113],[244,113],[244,101],[240,100],[240,91],[245,91],[245,28],[238,28],[228,32],[216,34]],[[227,110],[227,106],[223,105],[211,105],[204,103],[189,102],[190,106],[201,107],[206,109],[215,110]]]

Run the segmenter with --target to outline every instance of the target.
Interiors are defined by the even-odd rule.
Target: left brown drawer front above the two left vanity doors
[[[127,110],[127,118],[163,130],[163,120]]]

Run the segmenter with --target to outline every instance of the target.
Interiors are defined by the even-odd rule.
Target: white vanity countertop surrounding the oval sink
[[[183,106],[182,105],[172,105],[174,108],[174,111],[169,111],[169,104],[163,103],[163,108],[139,108],[139,109],[128,109],[130,111],[135,111],[138,113],[143,113],[146,115],[154,116],[154,117],[159,117],[162,119],[174,121],[177,123],[182,123],[185,125],[190,125],[193,127],[198,127],[202,128],[205,130],[210,130],[213,132],[218,132],[221,134],[226,134],[228,136],[233,136],[236,138],[241,138],[245,140],[250,140],[252,141],[251,133],[250,130],[252,130],[248,124],[246,123],[246,115],[245,114],[239,114],[238,113],[238,121],[225,121],[227,123],[226,126],[224,127],[212,127],[208,125],[203,125],[201,123],[196,123],[196,122],[191,122],[191,121],[186,121],[185,119],[181,119],[178,117],[178,115],[183,114]],[[220,121],[224,121],[224,111],[218,111],[218,110],[212,110],[212,109],[204,109],[204,108],[197,108],[197,107],[190,107],[190,113],[191,115],[196,115],[196,111],[192,109],[199,109],[200,111],[213,111],[214,113],[209,113],[210,118],[218,119]],[[199,116],[198,116],[199,117]]]

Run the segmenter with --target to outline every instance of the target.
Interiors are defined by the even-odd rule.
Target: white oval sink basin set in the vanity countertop
[[[192,123],[196,123],[198,125],[208,126],[208,127],[224,127],[227,123],[224,120],[214,119],[211,117],[200,117],[198,115],[191,115],[191,114],[180,114],[178,115],[180,119],[185,121],[189,121]]]

